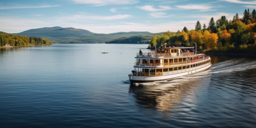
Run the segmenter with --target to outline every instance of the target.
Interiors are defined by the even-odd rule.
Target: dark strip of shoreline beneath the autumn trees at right
[[[223,53],[223,52],[201,52],[206,55],[225,55],[225,56],[234,56],[234,57],[253,57],[256,58],[256,54],[250,53]]]

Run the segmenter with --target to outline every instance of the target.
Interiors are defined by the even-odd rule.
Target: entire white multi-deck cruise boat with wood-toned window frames
[[[211,58],[197,53],[194,47],[155,48],[155,52],[137,53],[134,70],[129,74],[131,83],[170,80],[209,69]]]

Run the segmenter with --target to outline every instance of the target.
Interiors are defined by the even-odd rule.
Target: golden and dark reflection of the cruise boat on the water
[[[160,111],[177,110],[183,100],[195,102],[195,91],[201,84],[201,78],[179,78],[157,85],[130,86],[129,92],[136,94],[136,103],[143,108]],[[189,98],[188,98],[189,97]],[[193,103],[194,104],[194,103]],[[193,105],[192,105],[193,106]]]

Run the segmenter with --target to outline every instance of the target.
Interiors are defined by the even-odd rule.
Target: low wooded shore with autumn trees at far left
[[[0,32],[0,46],[10,44],[11,46],[30,46],[30,45],[52,45],[52,42],[39,37],[27,37]]]

